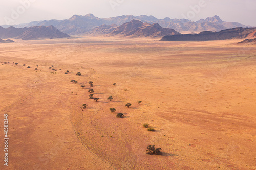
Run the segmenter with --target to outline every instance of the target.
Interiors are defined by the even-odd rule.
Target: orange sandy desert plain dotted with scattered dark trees
[[[1,44],[1,169],[256,169],[256,46],[239,41]],[[163,154],[147,155],[150,144]]]

